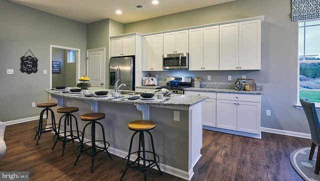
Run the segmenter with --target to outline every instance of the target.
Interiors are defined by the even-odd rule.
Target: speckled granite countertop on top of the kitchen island
[[[139,98],[136,100],[129,100],[128,97],[132,95],[119,94],[118,96],[112,97],[111,92],[113,89],[102,89],[102,88],[88,88],[89,93],[94,93],[94,91],[108,91],[106,97],[86,97],[83,95],[82,91],[80,93],[63,93],[63,91],[56,91],[51,89],[45,89],[46,92],[57,95],[61,97],[67,98],[75,98],[75,99],[83,99],[83,100],[91,100],[91,101],[102,101],[102,102],[114,102],[114,103],[128,103],[128,104],[145,104],[145,105],[164,105],[164,106],[192,106],[198,102],[201,102],[207,99],[207,96],[201,95],[184,95],[184,94],[174,94],[170,96],[164,96],[162,99],[143,99]],[[120,90],[121,91],[121,90]],[[130,90],[124,90],[130,91]],[[133,91],[135,92],[135,91]],[[139,92],[136,92],[138,95]],[[134,95],[134,96],[136,96]]]

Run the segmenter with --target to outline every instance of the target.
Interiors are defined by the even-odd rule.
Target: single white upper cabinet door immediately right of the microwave
[[[203,28],[189,29],[189,70],[203,69]]]

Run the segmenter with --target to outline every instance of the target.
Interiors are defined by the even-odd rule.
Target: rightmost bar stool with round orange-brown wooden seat
[[[123,164],[125,165],[125,169],[123,170],[123,173],[122,173],[120,180],[122,180],[127,168],[142,171],[143,175],[144,175],[144,180],[146,180],[146,170],[150,169],[156,165],[160,174],[162,175],[162,171],[159,167],[159,156],[157,154],[155,154],[155,152],[154,152],[153,138],[152,138],[152,135],[149,131],[155,127],[155,123],[153,121],[149,121],[149,120],[135,120],[135,121],[130,122],[128,124],[128,127],[130,130],[133,130],[135,132],[131,136],[128,155],[123,159]],[[143,132],[147,132],[150,135],[152,151],[145,150]],[[139,133],[138,150],[131,152],[132,140],[133,140],[134,135],[137,133]],[[141,151],[141,147],[142,147],[142,151]],[[134,161],[130,162],[130,155],[135,154],[135,153],[137,153],[137,158]],[[142,156],[141,156],[141,153],[142,153]],[[150,157],[152,157],[152,158],[147,158],[145,153],[151,153]],[[125,163],[125,159],[126,159],[126,163]],[[143,165],[139,164],[140,161],[143,162]]]

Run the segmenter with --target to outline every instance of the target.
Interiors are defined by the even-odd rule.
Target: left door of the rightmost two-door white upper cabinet
[[[219,69],[237,70],[239,62],[239,23],[219,25]]]

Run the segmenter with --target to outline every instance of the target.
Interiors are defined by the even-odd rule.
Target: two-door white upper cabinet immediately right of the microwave
[[[219,26],[189,30],[189,70],[219,69]]]

